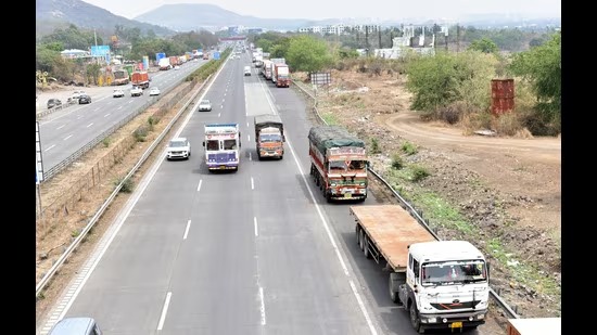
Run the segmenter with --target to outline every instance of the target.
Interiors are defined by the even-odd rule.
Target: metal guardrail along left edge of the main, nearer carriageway
[[[164,139],[164,137],[168,133],[168,131],[170,131],[172,127],[174,126],[174,124],[178,120],[178,118],[180,118],[180,116],[187,111],[187,107],[191,104],[192,101],[194,101],[194,99],[196,98],[196,95],[199,95],[199,93],[203,90],[203,88],[205,87],[205,85],[212,79],[212,75],[209,77],[207,77],[207,79],[199,87],[199,89],[196,90],[196,92],[191,96],[191,99],[189,99],[189,101],[187,101],[185,103],[185,105],[182,107],[180,107],[180,109],[178,111],[178,113],[173,117],[173,119],[168,123],[168,125],[166,125],[166,127],[164,128],[164,130],[162,131],[162,133],[153,141],[153,143],[150,145],[150,147],[148,147],[148,150],[143,153],[143,155],[141,156],[141,158],[139,158],[139,162],[137,162],[137,164],[130,169],[130,171],[127,173],[127,176],[125,178],[123,178],[123,180],[120,181],[120,183],[118,183],[118,185],[116,186],[116,189],[114,189],[114,191],[112,192],[112,194],[110,194],[110,196],[107,197],[107,199],[102,204],[102,206],[100,207],[100,209],[96,212],[96,215],[91,218],[91,220],[89,220],[89,223],[87,223],[85,226],[85,228],[81,230],[81,232],[79,233],[79,235],[75,239],[75,241],[73,241],[73,243],[71,243],[71,245],[66,248],[66,250],[59,257],[59,259],[54,262],[54,265],[50,268],[50,270],[43,275],[43,278],[39,281],[39,283],[37,283],[36,287],[35,287],[35,295],[36,295],[36,298],[39,296],[39,294],[43,291],[43,288],[46,288],[46,286],[48,285],[48,283],[50,283],[51,279],[54,276],[54,274],[56,273],[56,271],[60,269],[60,267],[62,267],[62,265],[64,263],[64,261],[66,259],[68,259],[68,257],[71,256],[71,254],[79,246],[79,244],[81,243],[81,241],[87,236],[87,233],[89,233],[89,231],[91,230],[91,228],[93,228],[93,226],[96,226],[96,223],[99,221],[99,219],[102,217],[102,215],[105,212],[105,210],[107,209],[107,207],[110,207],[110,205],[112,204],[112,202],[114,201],[114,198],[116,197],[116,195],[118,194],[118,192],[120,192],[120,189],[123,188],[123,184],[125,182],[127,182],[127,180],[129,178],[132,177],[132,175],[135,175],[135,172],[137,172],[137,170],[143,165],[143,163],[145,163],[145,160],[148,159],[148,157],[153,153],[153,151],[157,147],[157,145],[162,142],[162,140]],[[153,102],[152,102],[153,103]],[[147,104],[145,104],[147,105]],[[127,117],[127,119],[130,119],[129,117]],[[113,127],[114,128],[114,127]],[[105,131],[107,132],[107,131]],[[105,133],[104,132],[104,133]],[[100,138],[100,137],[98,137]],[[92,141],[93,142],[93,141]],[[98,141],[99,142],[99,141]],[[91,142],[90,142],[91,143]],[[90,145],[90,144],[87,144],[87,145]]]

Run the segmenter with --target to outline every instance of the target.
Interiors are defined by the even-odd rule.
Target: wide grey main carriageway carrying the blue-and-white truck
[[[243,76],[247,64],[227,61],[204,93],[213,111],[179,130],[191,158],[149,169],[51,313],[91,315],[109,335],[415,334],[388,272],[357,248],[350,204],[328,204],[308,176],[310,107],[256,69]],[[282,160],[255,158],[264,113],[284,121]],[[238,172],[205,168],[214,121],[241,126]]]

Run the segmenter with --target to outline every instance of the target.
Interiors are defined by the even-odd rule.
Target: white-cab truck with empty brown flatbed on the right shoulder
[[[477,247],[436,241],[399,205],[352,206],[350,214],[358,247],[390,271],[390,298],[408,311],[416,332],[485,323],[490,273]]]

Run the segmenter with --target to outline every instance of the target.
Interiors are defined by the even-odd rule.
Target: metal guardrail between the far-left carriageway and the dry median
[[[59,164],[52,166],[47,171],[43,171],[43,182],[50,180],[52,177],[58,175],[61,170],[65,169],[66,167],[71,166],[75,160],[77,160],[79,157],[81,157],[85,153],[90,151],[93,146],[96,146],[101,141],[105,140],[107,137],[110,137],[112,133],[114,133],[116,130],[120,129],[124,125],[128,124],[131,119],[137,117],[137,115],[141,114],[143,111],[145,111],[149,106],[157,102],[163,94],[167,94],[172,90],[176,88],[175,86],[172,86],[169,89],[166,89],[165,91],[162,91],[162,94],[157,95],[156,98],[150,99],[147,101],[143,105],[139,106],[137,111],[129,114],[126,118],[122,119],[118,124],[112,126],[111,128],[104,130],[102,133],[100,133],[98,137],[96,137],[93,140],[89,141],[87,144],[81,146],[79,150],[71,154],[66,159],[60,162]],[[42,112],[43,113],[43,112]],[[39,113],[41,114],[41,113]],[[39,115],[37,114],[37,115]],[[46,113],[45,115],[50,114]]]

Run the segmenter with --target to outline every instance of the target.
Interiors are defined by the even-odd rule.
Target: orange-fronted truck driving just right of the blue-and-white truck
[[[284,125],[279,115],[256,115],[255,124],[255,150],[259,160],[264,158],[284,157]]]

